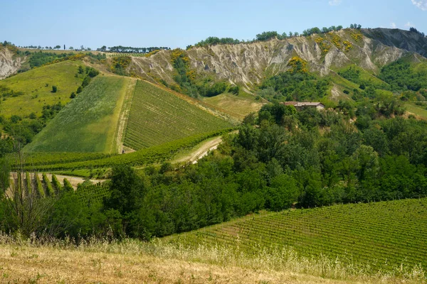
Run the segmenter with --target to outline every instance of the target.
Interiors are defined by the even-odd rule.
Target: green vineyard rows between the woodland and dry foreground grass
[[[238,247],[249,253],[291,247],[300,256],[338,257],[373,272],[401,263],[427,268],[427,199],[344,204],[244,217],[170,236],[172,243]]]

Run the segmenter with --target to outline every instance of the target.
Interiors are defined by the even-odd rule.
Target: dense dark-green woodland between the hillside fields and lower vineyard
[[[354,114],[371,120],[352,124]],[[103,200],[56,197],[39,233],[49,228],[78,238],[112,229],[118,237],[149,239],[260,209],[427,195],[426,122],[384,117],[376,102],[326,111],[265,105],[195,165],[116,166]],[[1,216],[2,229],[16,230]]]

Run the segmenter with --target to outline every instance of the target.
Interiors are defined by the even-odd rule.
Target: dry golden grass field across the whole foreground
[[[297,260],[280,253],[246,256],[132,240],[41,245],[0,236],[0,283],[423,283],[417,277],[368,276],[326,258]]]

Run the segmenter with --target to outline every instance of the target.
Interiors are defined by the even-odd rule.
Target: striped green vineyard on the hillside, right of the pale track
[[[124,145],[134,150],[231,127],[170,92],[138,81]]]

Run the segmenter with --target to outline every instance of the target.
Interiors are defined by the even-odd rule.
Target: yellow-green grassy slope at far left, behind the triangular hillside
[[[70,102],[71,92],[75,92],[83,81],[83,77],[75,77],[79,65],[83,65],[83,62],[66,60],[1,80],[0,87],[23,94],[6,97],[1,101],[0,114],[6,117],[12,114],[28,116],[31,113],[41,116],[46,104]],[[51,92],[53,85],[58,87],[56,93]]]

